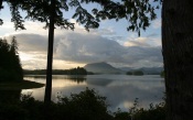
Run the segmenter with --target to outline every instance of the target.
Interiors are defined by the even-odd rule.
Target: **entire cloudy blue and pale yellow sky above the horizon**
[[[26,30],[15,31],[11,22],[10,10],[7,4],[0,11],[3,25],[0,25],[0,37],[11,40],[17,36],[19,55],[24,69],[45,69],[47,55],[47,34],[45,23],[26,20]],[[92,6],[86,6],[90,9]],[[157,11],[157,19],[151,25],[141,31],[128,32],[128,21],[105,20],[96,30],[85,31],[76,20],[71,19],[69,12],[64,13],[75,23],[75,30],[55,29],[54,37],[54,69],[83,67],[89,63],[106,62],[115,67],[162,67],[161,54],[161,13]],[[22,13],[24,14],[24,13]]]

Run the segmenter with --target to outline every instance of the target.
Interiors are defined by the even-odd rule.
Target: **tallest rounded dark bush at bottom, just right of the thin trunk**
[[[111,117],[105,100],[106,98],[97,95],[95,90],[86,88],[79,94],[72,94],[69,98],[58,97],[58,105],[64,106],[58,113],[65,111],[74,120],[109,120]],[[64,116],[63,119],[69,118]]]

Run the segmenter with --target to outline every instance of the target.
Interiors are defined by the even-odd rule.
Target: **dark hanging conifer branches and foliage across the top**
[[[161,0],[154,0],[154,2]],[[10,6],[12,22],[15,30],[25,29],[23,25],[24,19],[32,21],[45,22],[45,28],[49,28],[51,15],[51,0],[7,0]],[[87,11],[83,6],[84,3],[96,3],[101,6],[98,10],[94,8],[92,13]],[[114,0],[55,0],[55,19],[56,26],[63,29],[74,30],[74,23],[71,23],[68,19],[63,17],[63,12],[68,12],[69,7],[75,8],[73,19],[81,24],[84,24],[85,29],[97,29],[100,20],[106,19],[126,19],[129,23],[128,31],[137,31],[140,35],[140,30],[146,30],[150,25],[150,21],[157,18],[154,13],[156,9],[159,9],[159,4],[151,6],[150,0],[121,0],[115,2]],[[19,10],[26,12],[24,19],[21,17]],[[1,24],[3,21],[1,20]]]

